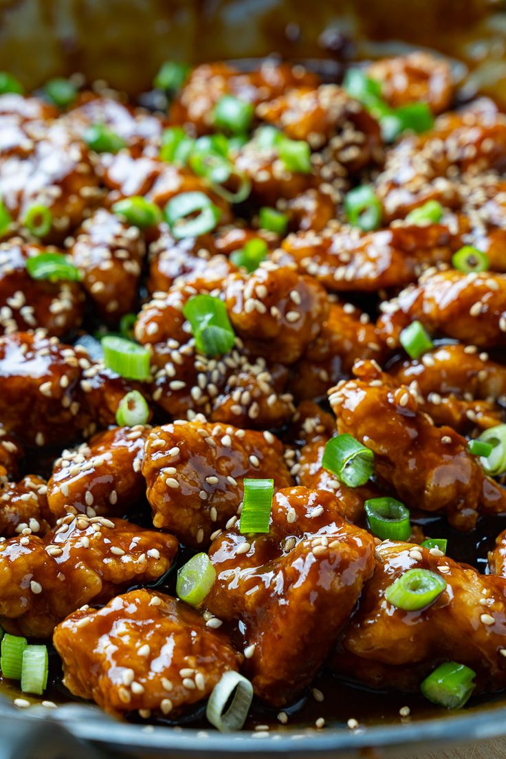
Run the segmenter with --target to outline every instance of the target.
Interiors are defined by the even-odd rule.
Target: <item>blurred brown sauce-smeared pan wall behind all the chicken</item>
[[[506,106],[504,0],[0,0],[0,70],[33,88],[82,71],[130,93],[162,61],[272,53],[341,61],[426,46]],[[335,73],[334,73],[335,72]]]

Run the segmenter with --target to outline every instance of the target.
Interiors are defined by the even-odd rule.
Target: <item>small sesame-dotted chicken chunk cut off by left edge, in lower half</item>
[[[0,483],[0,534],[2,537],[26,530],[44,535],[55,524],[48,508],[46,480],[27,474],[17,483]]]

